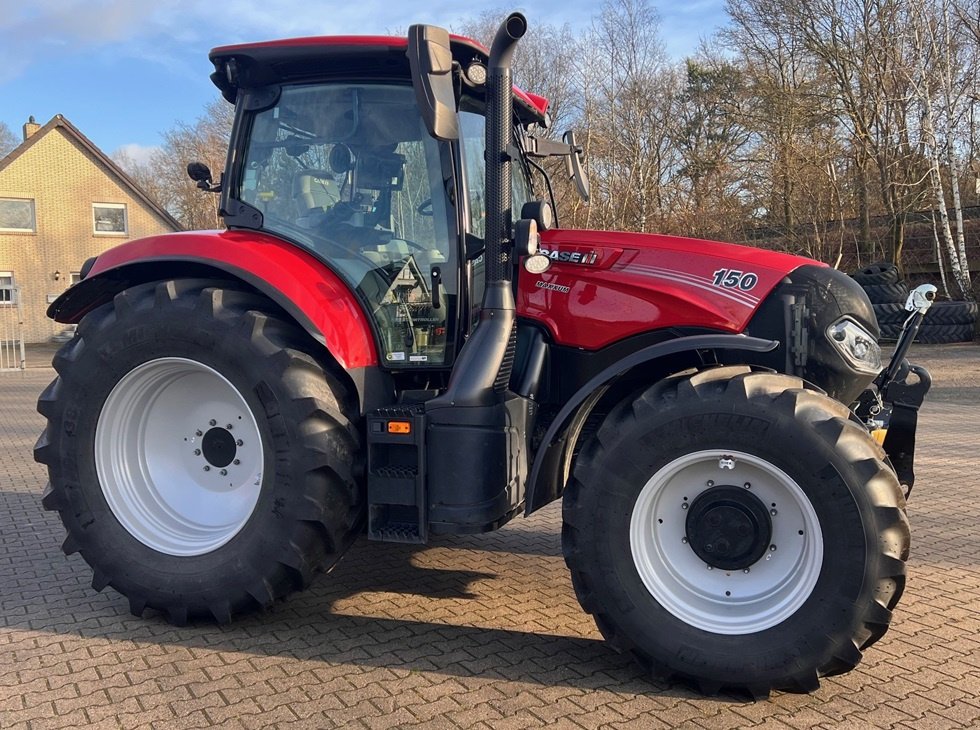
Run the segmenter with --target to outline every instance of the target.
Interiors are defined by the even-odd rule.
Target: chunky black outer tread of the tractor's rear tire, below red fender
[[[302,460],[297,469],[303,475],[295,487],[299,494],[297,501],[310,506],[310,513],[288,515],[282,526],[275,527],[274,535],[263,537],[270,543],[268,558],[260,565],[242,568],[243,574],[251,577],[235,585],[209,588],[204,597],[176,592],[167,597],[163,591],[149,587],[134,588],[132,581],[103,568],[103,557],[87,547],[89,542],[79,518],[73,514],[75,507],[67,491],[69,485],[59,465],[61,456],[50,442],[50,434],[57,432],[56,424],[66,408],[68,384],[77,388],[80,382],[75,369],[89,343],[111,340],[112,332],[121,324],[139,321],[154,309],[179,309],[181,313],[172,316],[184,319],[206,318],[226,337],[240,333],[237,336],[247,339],[252,349],[260,353],[261,364],[256,370],[261,375],[256,376],[256,392],[263,386],[268,389],[267,382],[274,382],[293,394],[288,400],[288,419],[296,424],[298,441],[294,448],[299,453],[295,458]],[[51,476],[43,505],[61,514],[68,530],[65,547],[72,552],[80,551],[92,566],[93,588],[102,590],[111,585],[120,590],[129,599],[135,615],[153,608],[177,625],[196,618],[226,623],[243,610],[265,609],[291,591],[307,587],[317,571],[329,570],[340,559],[353,543],[363,520],[363,500],[358,499],[360,489],[350,463],[360,449],[358,433],[347,415],[354,412],[349,410],[353,396],[329,365],[303,351],[303,342],[303,333],[280,319],[268,300],[201,279],[172,279],[135,286],[83,318],[75,338],[56,354],[57,377],[38,400],[38,411],[48,424],[38,439],[34,456],[48,466]],[[277,419],[286,417],[278,408],[274,410],[275,413],[267,415]],[[282,424],[285,427],[286,422]],[[226,580],[218,576],[215,583],[223,584]]]

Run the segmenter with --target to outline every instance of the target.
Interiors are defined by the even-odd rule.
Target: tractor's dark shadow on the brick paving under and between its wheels
[[[460,567],[468,555],[446,557],[453,555],[449,548],[481,549],[478,537],[440,538],[429,546],[361,539],[330,574],[319,575],[311,588],[265,613],[237,617],[230,626],[197,621],[180,627],[156,611],[132,616],[127,600],[112,589],[93,591],[91,570],[79,555],[62,554],[63,539],[57,515],[42,510],[39,494],[0,491],[0,626],[7,631],[601,688],[630,696],[700,696],[682,685],[648,679],[629,657],[598,638],[568,635],[574,631],[559,623],[542,627],[540,613],[522,625],[514,604],[527,591],[537,591],[537,584],[521,588],[513,578],[502,580],[480,569],[479,561],[475,569]],[[445,565],[419,564],[430,549],[440,551]],[[483,549],[504,555],[504,543]],[[505,566],[535,560],[517,550]],[[543,559],[557,562],[553,555]],[[562,590],[568,593],[565,600],[574,603],[570,587]],[[499,619],[498,613],[507,618]]]

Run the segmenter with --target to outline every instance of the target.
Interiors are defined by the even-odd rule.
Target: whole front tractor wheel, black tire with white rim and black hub
[[[607,416],[565,492],[583,608],[662,677],[812,691],[884,635],[905,585],[905,500],[846,407],[723,367]]]

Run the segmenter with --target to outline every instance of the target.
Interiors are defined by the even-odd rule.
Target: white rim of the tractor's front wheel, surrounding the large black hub
[[[714,485],[746,484],[770,510],[770,549],[744,570],[710,567],[687,542],[685,505]],[[698,451],[659,469],[633,508],[630,548],[643,584],[664,609],[727,635],[764,631],[792,616],[823,564],[820,522],[800,486],[765,459],[735,451]]]

